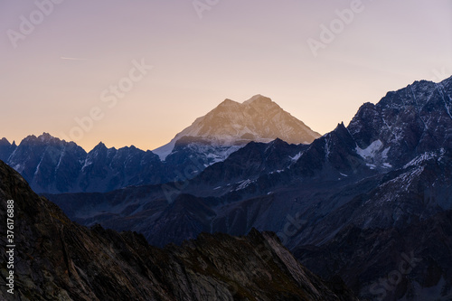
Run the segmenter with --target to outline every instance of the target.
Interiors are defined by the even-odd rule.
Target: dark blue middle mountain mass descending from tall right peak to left
[[[137,230],[159,246],[272,230],[363,299],[448,300],[451,113],[452,78],[416,81],[308,146],[250,143],[184,183],[50,197],[75,221]],[[406,257],[417,261],[401,273]]]

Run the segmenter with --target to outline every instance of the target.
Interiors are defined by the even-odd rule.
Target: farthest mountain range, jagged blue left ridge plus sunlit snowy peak
[[[22,174],[37,193],[103,193],[193,178],[250,141],[280,138],[300,144],[318,136],[271,99],[256,96],[243,104],[223,101],[156,150],[158,155],[135,146],[116,149],[102,143],[87,153],[73,142],[44,133],[26,137],[19,146],[3,138],[0,160]]]

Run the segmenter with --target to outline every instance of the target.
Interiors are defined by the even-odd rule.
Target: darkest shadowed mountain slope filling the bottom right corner
[[[293,251],[323,277],[341,275],[363,300],[452,299],[452,211],[401,227],[349,224],[321,246]]]

